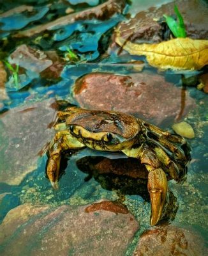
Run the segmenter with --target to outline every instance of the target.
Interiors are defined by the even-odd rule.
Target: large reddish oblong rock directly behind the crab
[[[144,72],[131,76],[87,74],[76,81],[73,94],[81,108],[121,111],[156,125],[174,120],[181,111],[181,90],[163,76]],[[195,100],[187,95],[182,115],[193,106]]]

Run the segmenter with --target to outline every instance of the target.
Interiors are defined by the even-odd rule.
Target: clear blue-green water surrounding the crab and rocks
[[[39,1],[40,6],[46,6],[49,1]],[[131,15],[135,15],[136,11],[145,10],[152,6],[154,1],[133,1],[132,6],[130,6],[129,11]],[[157,1],[159,4],[166,3],[167,1]],[[34,1],[21,1],[22,4],[34,4]],[[20,1],[15,3],[11,1],[3,4],[2,10],[6,12],[15,6],[19,6]],[[39,7],[38,7],[39,8]],[[80,7],[78,7],[80,8]],[[61,7],[56,9],[56,15],[63,15],[63,10]],[[64,9],[64,8],[63,8]],[[81,7],[82,9],[82,7]],[[35,38],[24,38],[15,42],[14,40],[6,40],[5,36],[10,36],[15,33],[16,30],[21,29],[26,24],[29,27],[38,25],[50,19],[50,15],[53,13],[48,11],[47,7],[37,9],[38,14],[33,19],[30,17],[20,17],[19,15],[10,16],[11,24],[5,26],[0,26],[1,28],[1,42],[0,42],[0,57],[2,60],[10,54],[17,45],[20,44],[34,44]],[[21,24],[19,22],[21,20]],[[70,42],[73,49],[77,51],[81,50],[81,45],[85,45],[83,50],[83,58],[88,61],[93,61],[89,63],[79,63],[78,65],[66,65],[63,72],[61,73],[61,79],[45,79],[41,77],[34,76],[34,79],[27,83],[27,86],[22,90],[12,91],[10,90],[10,85],[6,89],[8,92],[8,98],[1,100],[1,114],[0,114],[0,173],[6,172],[6,164],[10,164],[10,158],[4,159],[4,152],[7,150],[8,141],[10,138],[3,136],[4,125],[1,120],[6,116],[6,112],[10,109],[17,108],[18,106],[24,106],[26,102],[38,102],[43,101],[48,98],[55,97],[59,100],[68,100],[71,104],[76,104],[75,100],[71,96],[71,86],[75,83],[78,77],[88,74],[90,72],[113,72],[115,74],[129,75],[135,71],[135,65],[123,66],[117,64],[121,61],[120,57],[112,54],[107,59],[100,60],[99,51],[97,47],[98,40],[100,40],[103,33],[107,33],[109,29],[116,26],[118,22],[123,20],[122,15],[117,15],[114,18],[108,20],[107,22],[92,22],[92,21],[82,21],[75,22],[73,26],[67,26],[64,28],[56,28],[56,31],[50,33],[49,38],[46,37],[44,40],[40,40],[38,44],[44,51],[58,50],[59,54],[63,55],[66,51],[66,42]],[[34,20],[39,20],[34,21]],[[3,18],[0,22],[4,23]],[[34,23],[31,23],[34,22]],[[0,23],[1,24],[1,23]],[[17,26],[19,24],[19,26]],[[86,28],[86,24],[89,25],[92,31],[94,31],[94,44],[91,41],[87,41],[87,33],[89,32]],[[27,27],[27,28],[29,28]],[[70,35],[73,31],[84,31],[83,38],[80,38],[79,44],[73,38],[68,41]],[[64,29],[64,31],[63,31]],[[100,35],[98,35],[100,33]],[[9,35],[10,34],[10,35]],[[10,38],[10,37],[8,37]],[[40,39],[40,38],[39,38]],[[36,40],[39,40],[36,38]],[[91,38],[92,40],[92,38]],[[37,41],[36,41],[37,42]],[[63,52],[61,52],[63,51]],[[90,51],[90,54],[89,54]],[[60,53],[61,52],[61,53]],[[81,56],[82,54],[80,54]],[[135,60],[140,58],[135,57]],[[128,61],[130,57],[126,57]],[[114,64],[112,64],[114,63]],[[151,68],[148,65],[145,66],[144,72],[149,72],[151,74],[158,74],[158,70]],[[159,71],[160,72],[160,71]],[[208,100],[207,95],[198,90],[196,86],[185,86],[182,85],[182,76],[198,76],[198,73],[186,73],[181,72],[160,72],[162,76],[165,77],[167,81],[171,81],[175,86],[181,88],[181,90],[186,90],[193,99],[196,100],[196,108],[193,109],[187,116],[186,122],[191,124],[195,130],[195,138],[188,140],[191,146],[191,163],[188,166],[188,173],[186,175],[186,180],[183,184],[177,184],[174,180],[168,182],[168,186],[175,198],[177,198],[177,205],[179,206],[177,213],[175,214],[174,220],[170,222],[179,227],[191,227],[197,230],[205,240],[207,240],[207,160],[208,160]],[[29,79],[29,77],[27,77]],[[174,100],[174,95],[173,95]],[[186,103],[186,102],[185,102]],[[171,104],[171,103],[170,103]],[[23,114],[22,114],[23,115]],[[44,119],[44,118],[43,118]],[[21,124],[19,124],[21,125]],[[48,124],[49,125],[49,124]],[[169,131],[171,130],[172,122],[165,124],[165,128]],[[23,129],[24,130],[24,129]],[[13,138],[12,138],[13,139]],[[18,145],[18,141],[17,141]],[[18,148],[17,148],[18,150]],[[41,147],[40,147],[41,150]],[[8,152],[9,154],[9,152]],[[50,204],[50,205],[83,205],[90,204],[100,199],[117,200],[119,198],[118,193],[115,190],[104,189],[98,180],[92,178],[85,181],[87,173],[78,170],[76,161],[85,156],[100,156],[101,153],[94,152],[92,150],[81,150],[73,155],[68,161],[68,166],[61,177],[59,182],[60,189],[58,191],[53,191],[48,179],[45,177],[45,164],[47,162],[47,156],[37,158],[37,168],[34,168],[32,172],[28,172],[27,175],[21,180],[19,184],[11,184],[12,182],[1,182],[0,183],[0,221],[3,221],[4,216],[10,211],[17,207],[18,205],[25,203],[32,204]],[[117,155],[109,156],[109,154],[101,154],[107,157],[118,157]],[[10,156],[10,154],[9,154]],[[12,156],[11,156],[12,157]],[[16,159],[17,160],[17,159]],[[20,159],[19,159],[20,160]],[[2,170],[1,170],[2,169]],[[15,172],[15,170],[14,170]],[[137,232],[130,248],[126,252],[126,255],[131,255],[135,244],[137,243],[138,237],[145,229],[149,228],[149,216],[150,216],[150,204],[138,195],[125,195],[124,204],[128,209],[134,214],[135,218],[140,222],[140,230]]]

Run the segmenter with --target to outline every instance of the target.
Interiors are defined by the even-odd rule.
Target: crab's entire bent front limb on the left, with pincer
[[[59,131],[50,142],[48,149],[47,176],[54,189],[58,188],[61,154],[70,149],[84,148],[85,146],[71,137],[67,130]]]

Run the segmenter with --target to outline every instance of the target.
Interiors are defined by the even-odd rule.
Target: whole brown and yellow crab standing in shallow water
[[[167,196],[167,176],[180,180],[190,159],[184,138],[116,111],[66,108],[57,113],[60,131],[47,150],[47,177],[58,188],[61,157],[68,150],[89,147],[123,152],[144,164],[148,172],[147,190],[151,199],[151,225],[161,218]]]

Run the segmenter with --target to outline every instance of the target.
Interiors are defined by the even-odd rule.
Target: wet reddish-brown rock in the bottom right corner
[[[133,256],[207,255],[203,239],[194,232],[171,225],[146,230]]]

